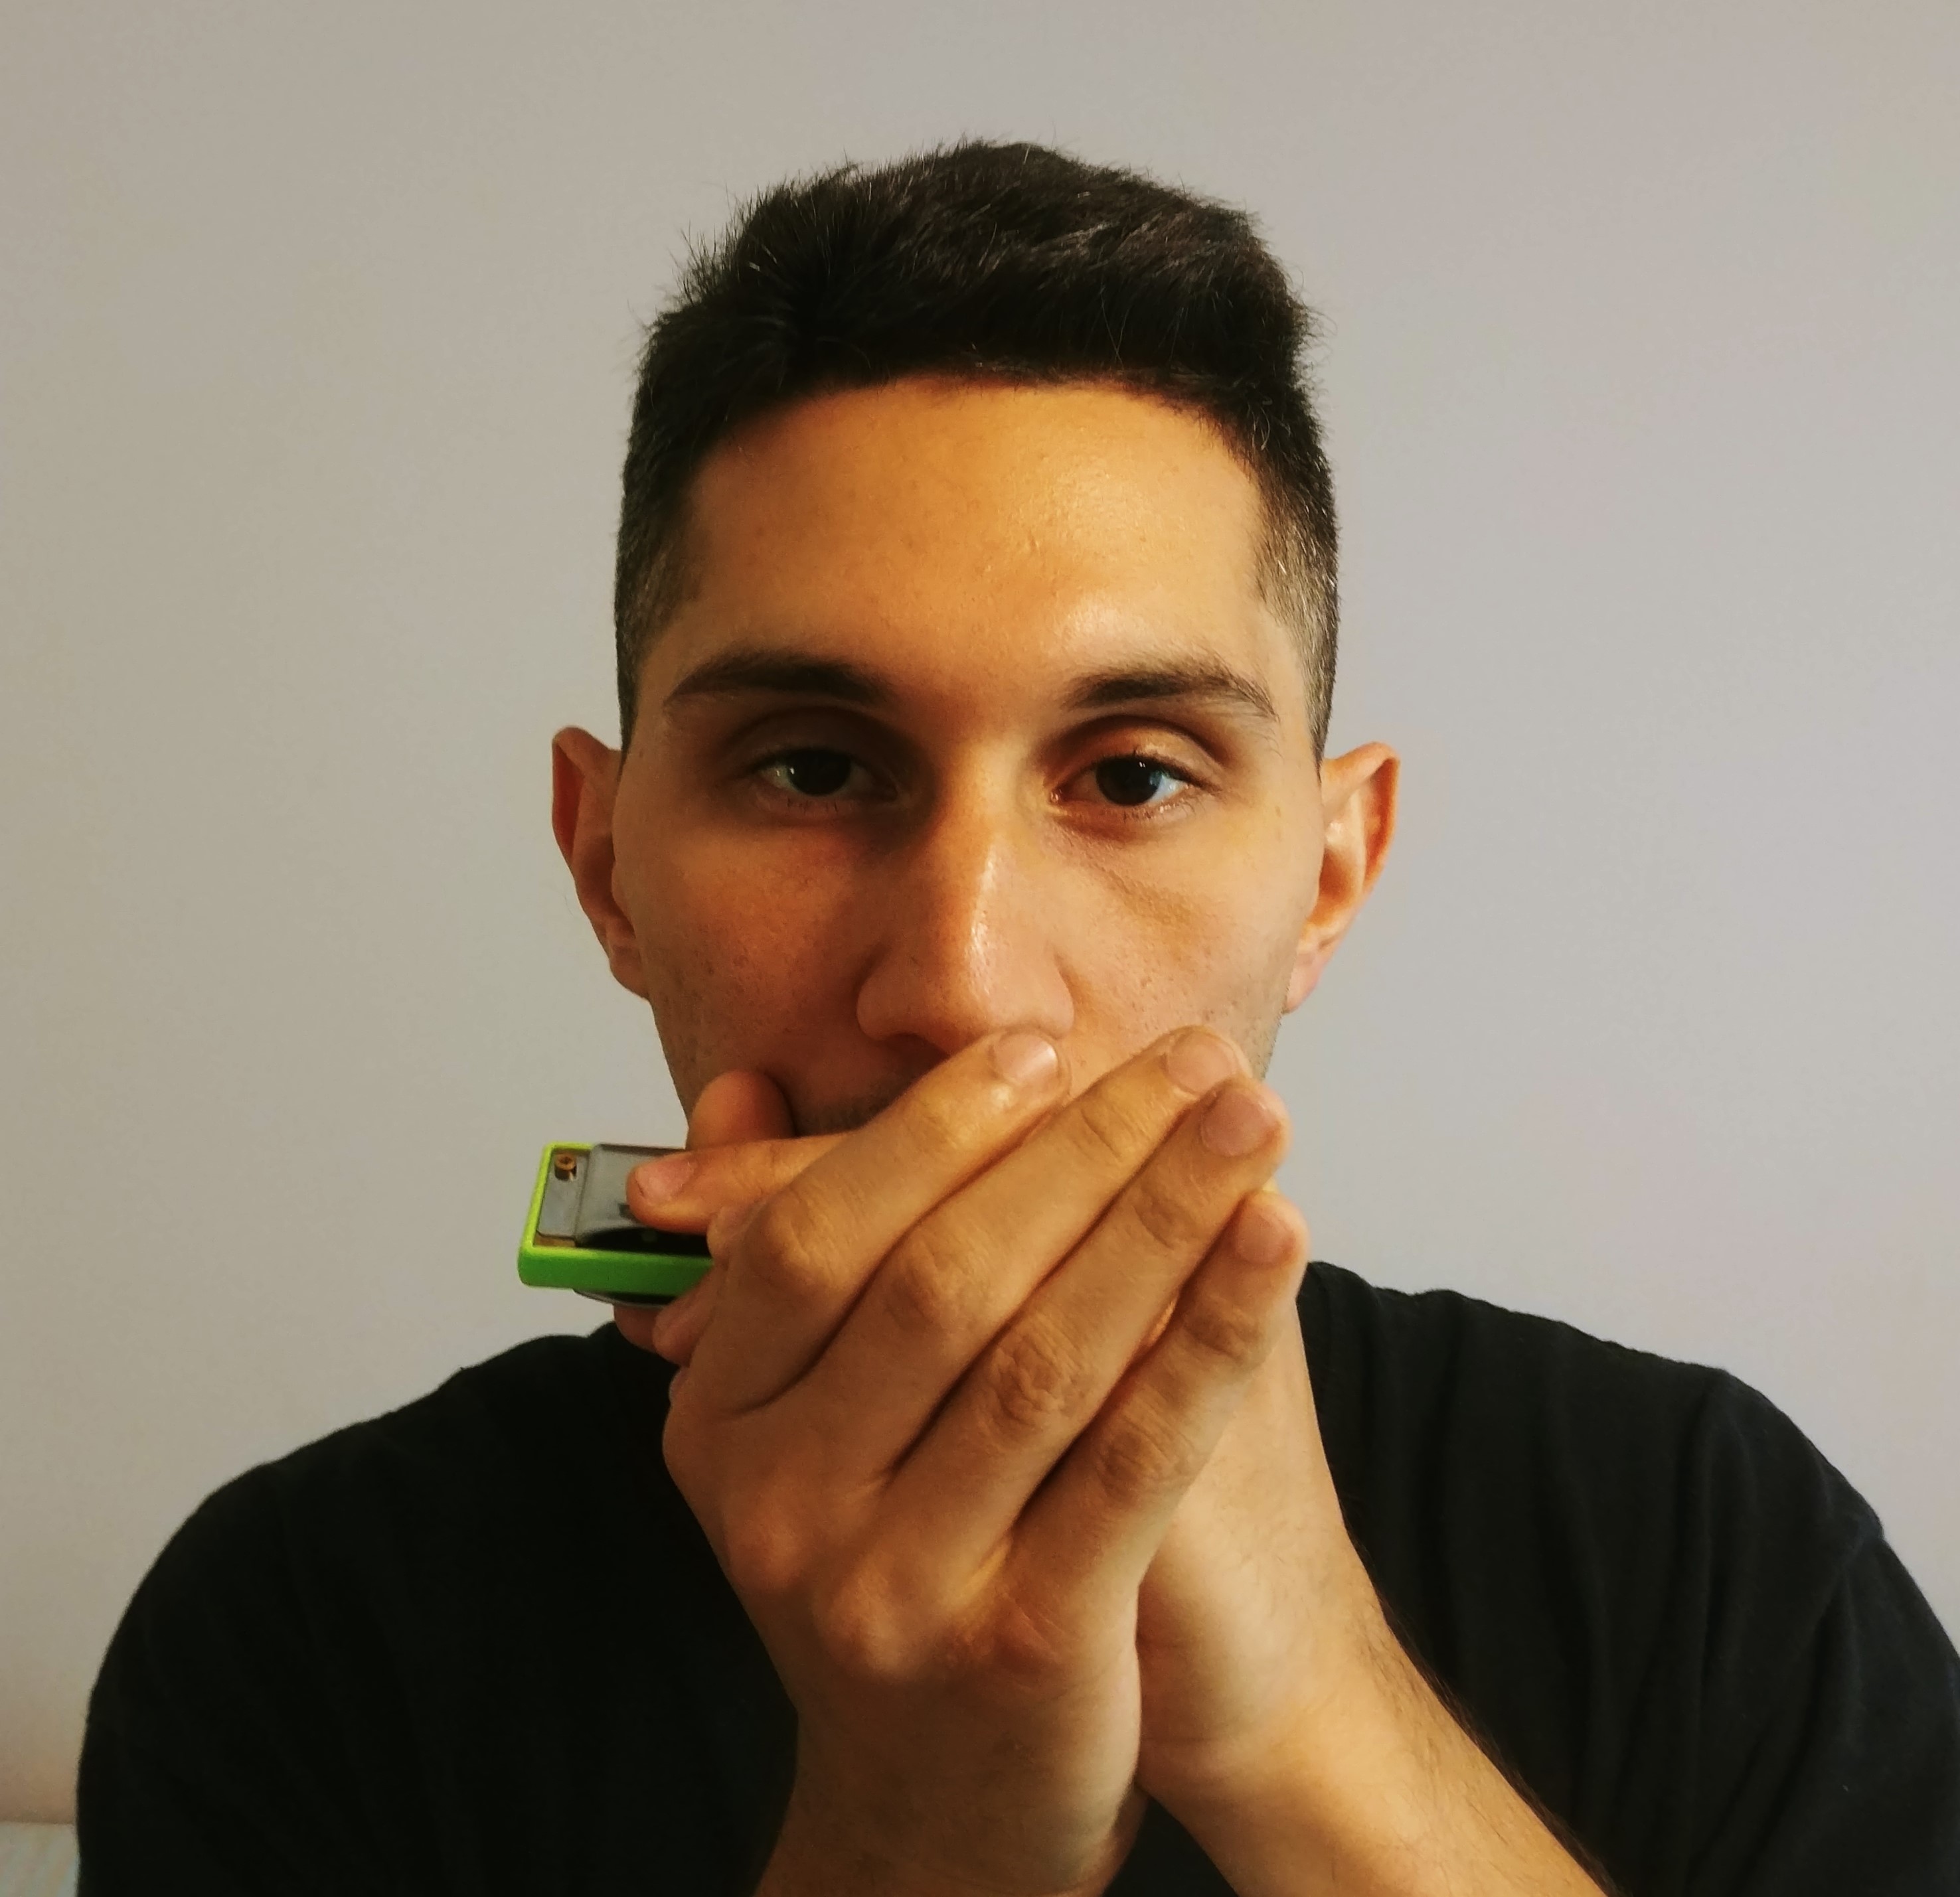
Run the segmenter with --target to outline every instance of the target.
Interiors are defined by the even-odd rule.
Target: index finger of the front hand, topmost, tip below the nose
[[[751,1409],[802,1378],[884,1254],[1064,1094],[1053,1041],[990,1035],[764,1199],[729,1252],[721,1317],[696,1354],[698,1399]]]

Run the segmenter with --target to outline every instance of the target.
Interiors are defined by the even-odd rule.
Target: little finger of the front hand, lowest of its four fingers
[[[1305,1221],[1276,1192],[1252,1193],[1164,1335],[1025,1509],[1009,1558],[1015,1585],[1053,1589],[1056,1601],[1135,1595],[1260,1364],[1288,1327],[1298,1331],[1305,1264]]]

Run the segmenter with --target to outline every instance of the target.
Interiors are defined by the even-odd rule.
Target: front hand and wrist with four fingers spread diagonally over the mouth
[[[1066,1094],[1039,1037],[962,1050],[723,1213],[666,1321],[668,1466],[798,1709],[764,1891],[1094,1891],[1129,1848],[1137,1591],[1303,1248],[1231,1244],[1286,1121],[1229,1043]]]

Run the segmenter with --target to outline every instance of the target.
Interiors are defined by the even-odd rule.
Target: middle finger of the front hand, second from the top
[[[1184,1029],[1088,1088],[921,1219],[866,1286],[808,1380],[809,1429],[890,1468],[974,1358],[1109,1213],[1194,1103],[1245,1074],[1209,1029]],[[1229,1203],[1215,1211],[1217,1221]],[[1196,1264],[1217,1227],[1203,1231]],[[1168,1295],[1162,1299],[1168,1303]],[[864,1393],[876,1389],[876,1405]]]

